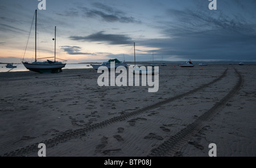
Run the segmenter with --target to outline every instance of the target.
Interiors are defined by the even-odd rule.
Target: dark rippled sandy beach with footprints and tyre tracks
[[[159,90],[93,69],[0,73],[0,156],[256,156],[256,66],[160,67]]]

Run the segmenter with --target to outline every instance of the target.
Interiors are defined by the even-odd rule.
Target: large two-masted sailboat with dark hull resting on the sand
[[[53,58],[53,57],[46,57],[46,58],[36,58],[36,16],[37,16],[37,10],[35,10],[35,61],[32,63],[29,63],[27,61],[22,61],[23,65],[30,71],[39,72],[41,74],[44,73],[57,73],[62,72],[61,68],[65,67],[66,63],[58,62],[56,59],[56,26],[55,26],[55,38],[52,40],[55,41],[55,50],[54,50],[54,61],[47,61],[44,62],[38,62],[37,59],[46,59],[46,58]],[[63,61],[66,61],[64,59],[61,59]]]

